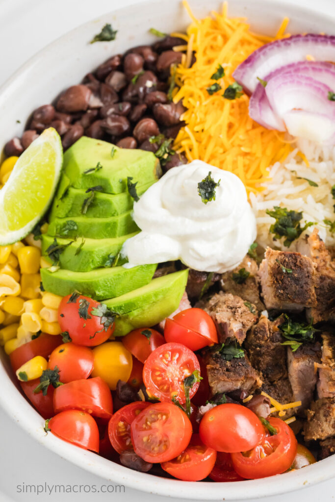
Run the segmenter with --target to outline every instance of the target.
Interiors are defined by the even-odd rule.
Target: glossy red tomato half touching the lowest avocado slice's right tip
[[[190,308],[178,312],[165,321],[164,337],[167,342],[186,345],[191,350],[199,350],[217,343],[217,331],[213,319],[202,309]]]

